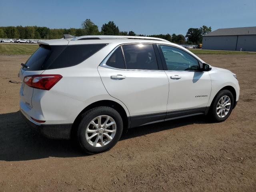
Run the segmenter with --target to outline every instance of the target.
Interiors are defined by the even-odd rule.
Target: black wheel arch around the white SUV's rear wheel
[[[130,116],[127,115],[126,110],[122,107],[121,104],[119,104],[118,102],[112,101],[112,100],[100,100],[100,101],[96,101],[88,106],[86,106],[86,108],[84,108],[76,117],[76,119],[74,120],[73,126],[72,126],[72,130],[71,130],[71,137],[73,134],[76,133],[76,128],[80,122],[80,116],[95,107],[99,107],[99,106],[107,106],[107,107],[111,107],[114,108],[122,117],[123,120],[123,132],[126,132],[127,128],[130,127]]]

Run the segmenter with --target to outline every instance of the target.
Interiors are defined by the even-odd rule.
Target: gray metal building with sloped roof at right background
[[[256,27],[217,29],[203,36],[202,49],[256,51]]]

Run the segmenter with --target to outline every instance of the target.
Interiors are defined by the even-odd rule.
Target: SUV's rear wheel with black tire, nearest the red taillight
[[[96,154],[110,150],[122,131],[122,117],[115,109],[96,107],[82,114],[76,139],[84,152]]]

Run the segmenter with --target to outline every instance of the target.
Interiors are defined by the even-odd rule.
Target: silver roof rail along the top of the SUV
[[[144,39],[144,40],[157,40],[157,41],[169,42],[168,40],[156,38],[156,37],[114,36],[114,35],[85,35],[85,36],[75,37],[72,40],[95,40],[95,39]]]

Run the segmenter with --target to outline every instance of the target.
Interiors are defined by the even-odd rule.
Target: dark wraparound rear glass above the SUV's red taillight
[[[47,69],[64,68],[77,65],[106,44],[85,44],[85,45],[40,45],[26,62],[23,70],[38,71]]]

